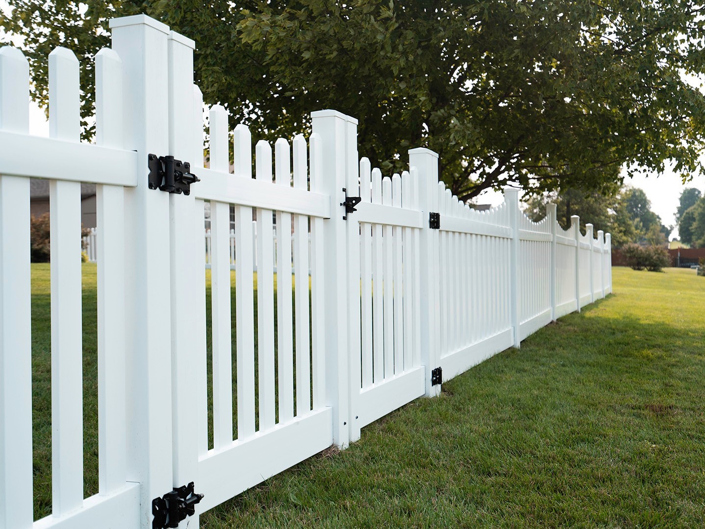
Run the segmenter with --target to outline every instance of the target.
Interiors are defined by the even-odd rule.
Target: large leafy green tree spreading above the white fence
[[[146,12],[198,39],[204,99],[228,104],[233,123],[271,139],[336,108],[360,118],[360,154],[386,172],[409,147],[439,152],[462,199],[508,183],[603,191],[621,166],[661,171],[668,159],[705,172],[705,97],[681,78],[704,66],[694,0],[11,5],[0,25],[25,38],[42,104],[56,44],[82,59],[90,99],[85,59],[108,44],[107,18]]]

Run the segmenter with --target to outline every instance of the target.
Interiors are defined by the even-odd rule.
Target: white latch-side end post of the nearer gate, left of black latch
[[[331,218],[324,223],[326,319],[326,406],[333,408],[333,444],[350,442],[348,378],[348,254],[343,209],[346,185],[348,116],[335,110],[311,113],[313,133],[321,137],[321,191],[331,197]]]

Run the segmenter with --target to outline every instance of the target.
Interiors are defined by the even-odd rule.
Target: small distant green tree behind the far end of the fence
[[[572,215],[579,215],[582,231],[585,223],[590,222],[595,233],[598,230],[611,233],[613,248],[637,241],[641,236],[618,186],[612,186],[606,194],[568,189],[529,197],[525,213],[533,221],[539,221],[546,216],[546,205],[551,202],[556,204],[558,224],[563,229],[570,228]]]

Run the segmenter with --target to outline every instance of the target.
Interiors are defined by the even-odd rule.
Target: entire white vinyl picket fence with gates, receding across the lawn
[[[112,48],[95,59],[94,144],[79,141],[73,53],[49,56],[51,137],[36,138],[27,135],[27,60],[0,49],[0,529],[166,526],[153,525],[154,499],[190,482],[204,497],[178,527],[197,527],[207,509],[331,444],[348,446],[382,415],[439,394],[441,379],[611,292],[609,234],[595,239],[588,224],[582,235],[577,218],[563,231],[555,206],[529,221],[516,190],[490,211],[470,209],[439,182],[438,156],[424,148],[409,151],[408,171],[383,177],[358,157],[357,121],[337,111],[314,112],[308,139],[253,150],[250,130],[229,131],[216,105],[204,168],[195,43],[146,16],[111,20],[111,30]],[[200,181],[189,195],[150,189],[149,154],[192,162]],[[51,192],[53,514],[38,521],[30,178],[49,179]],[[88,498],[80,182],[98,184],[89,255],[99,493]],[[293,230],[275,234],[273,212]]]

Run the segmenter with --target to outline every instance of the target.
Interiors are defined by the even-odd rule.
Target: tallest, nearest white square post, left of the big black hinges
[[[168,27],[145,15],[112,19],[123,61],[126,149],[142,168],[125,190],[127,476],[139,482],[140,523],[172,488],[169,195],[147,186],[147,155],[168,151]]]

